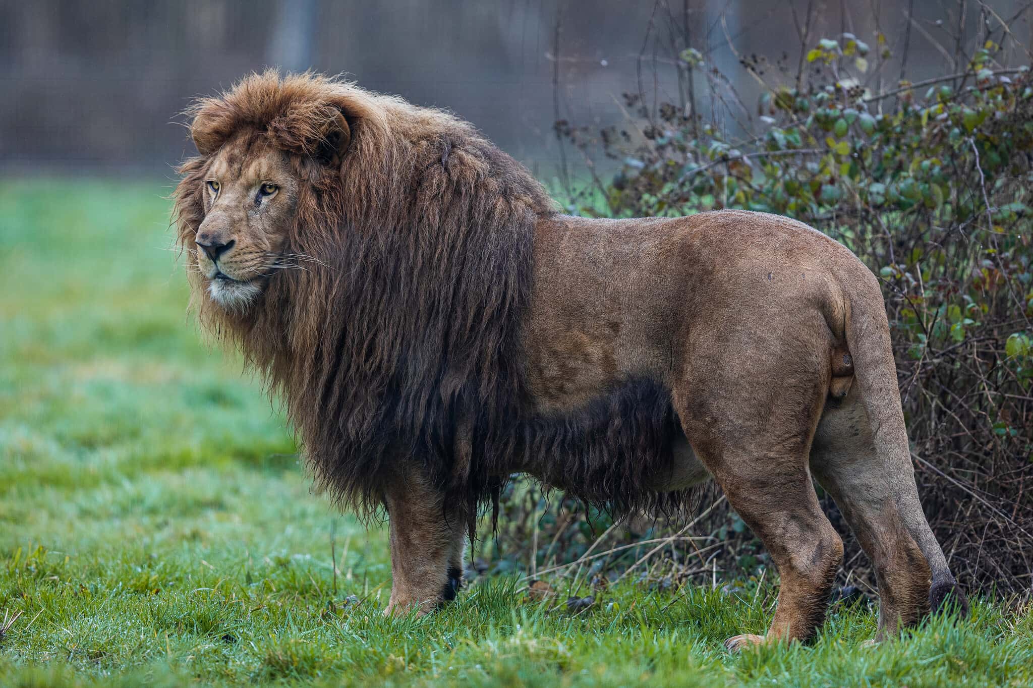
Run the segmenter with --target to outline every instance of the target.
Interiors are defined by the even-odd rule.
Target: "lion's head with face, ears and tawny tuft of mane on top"
[[[187,216],[181,246],[208,301],[246,316],[274,273],[307,269],[306,256],[289,250],[303,190],[340,174],[351,144],[346,110],[353,122],[378,124],[368,100],[347,84],[267,72],[192,108],[200,157],[183,165],[176,195]]]

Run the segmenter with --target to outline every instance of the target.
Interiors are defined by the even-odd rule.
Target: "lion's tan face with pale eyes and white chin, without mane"
[[[197,227],[197,269],[209,296],[246,311],[270,276],[287,267],[281,250],[298,202],[287,154],[259,136],[228,140],[201,182],[205,219]]]

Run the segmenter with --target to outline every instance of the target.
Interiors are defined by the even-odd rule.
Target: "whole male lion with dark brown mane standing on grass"
[[[781,574],[765,636],[813,635],[843,544],[877,637],[952,593],[922,515],[872,274],[794,220],[557,212],[440,111],[253,74],[191,111],[176,189],[202,323],[286,402],[316,478],[386,507],[388,612],[455,597],[478,504],[514,471],[623,511],[713,476]]]

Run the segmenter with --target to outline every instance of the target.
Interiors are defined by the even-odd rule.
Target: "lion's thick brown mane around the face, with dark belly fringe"
[[[319,75],[251,75],[191,114],[200,156],[175,193],[182,246],[204,219],[211,157],[238,132],[268,136],[308,182],[284,251],[317,262],[275,274],[246,317],[191,279],[201,322],[282,396],[343,504],[377,508],[403,457],[471,509],[521,468],[617,508],[668,499],[644,488],[669,466],[666,390],[629,384],[568,418],[525,411],[534,225],[555,210],[523,166],[450,115]],[[350,145],[326,167],[318,132],[339,114]]]

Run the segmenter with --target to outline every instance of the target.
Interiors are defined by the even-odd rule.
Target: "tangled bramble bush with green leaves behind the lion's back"
[[[987,41],[964,73],[873,94],[850,76],[868,68],[869,46],[844,34],[806,54],[810,85],[768,89],[756,130],[737,140],[640,94],[625,94],[623,128],[557,130],[620,166],[571,194],[573,212],[784,214],[880,277],[927,514],[964,584],[1010,593],[1028,591],[1033,570],[1033,79],[997,64],[996,51]],[[680,59],[702,81],[699,53]],[[702,528],[731,538],[725,567],[755,571],[764,557],[740,525],[725,508]],[[846,539],[847,568],[868,575]]]

